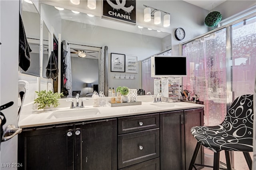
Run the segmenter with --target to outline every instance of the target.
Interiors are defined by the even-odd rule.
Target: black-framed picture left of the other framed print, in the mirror
[[[111,71],[125,71],[125,54],[111,53]]]

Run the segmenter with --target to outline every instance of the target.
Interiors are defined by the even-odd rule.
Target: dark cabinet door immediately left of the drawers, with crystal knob
[[[116,170],[116,119],[75,125],[75,169]]]

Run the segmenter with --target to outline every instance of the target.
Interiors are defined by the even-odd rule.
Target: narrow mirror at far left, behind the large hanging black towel
[[[30,67],[20,72],[24,74],[40,76],[40,15],[34,4],[22,0],[22,22],[27,41],[32,50],[30,52]]]

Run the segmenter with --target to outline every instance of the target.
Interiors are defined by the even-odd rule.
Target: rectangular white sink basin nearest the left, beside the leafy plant
[[[72,117],[87,117],[90,115],[100,115],[97,108],[79,108],[54,111],[47,119],[60,119]]]

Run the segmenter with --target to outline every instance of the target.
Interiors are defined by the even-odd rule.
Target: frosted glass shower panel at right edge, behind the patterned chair
[[[234,99],[254,94],[256,77],[256,17],[232,25],[231,89]],[[234,152],[234,168],[248,170],[244,155]],[[251,154],[252,157],[252,154]],[[241,161],[244,160],[244,161]]]

